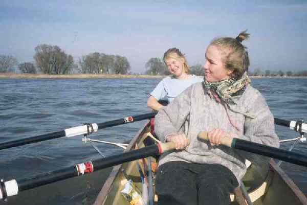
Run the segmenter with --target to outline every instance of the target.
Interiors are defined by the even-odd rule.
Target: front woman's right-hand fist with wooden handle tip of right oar
[[[234,138],[233,133],[226,132],[220,128],[212,129],[211,131],[200,131],[198,134],[199,139],[210,141],[213,145],[226,145],[231,147],[232,140]]]

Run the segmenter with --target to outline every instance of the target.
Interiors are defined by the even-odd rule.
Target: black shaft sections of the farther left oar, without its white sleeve
[[[155,117],[155,115],[157,115],[157,112],[150,112],[150,113],[146,113],[146,114],[142,114],[138,116],[130,116],[130,117],[122,118],[119,120],[98,123],[97,125],[98,125],[98,129],[102,129],[106,127],[122,125],[125,123],[132,123],[132,122],[150,119],[150,118]],[[18,140],[0,143],[0,150],[12,148],[12,147],[18,147],[21,145],[27,145],[27,144],[36,143],[36,142],[41,142],[41,141],[46,141],[46,140],[51,140],[51,139],[56,139],[56,138],[61,138],[63,136],[66,136],[65,130],[32,136],[30,138],[22,138]]]

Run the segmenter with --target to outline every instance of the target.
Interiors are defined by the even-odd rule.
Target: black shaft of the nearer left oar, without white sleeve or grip
[[[94,160],[92,162],[87,162],[87,165],[89,165],[89,163],[93,165],[93,169],[88,172],[85,171],[84,174],[90,173],[93,171],[98,171],[98,170],[101,170],[107,167],[119,165],[125,162],[138,160],[140,158],[157,155],[157,154],[160,154],[160,151],[161,149],[159,149],[158,145],[150,145],[148,147],[140,148],[137,150],[132,150],[129,152],[124,152],[121,154],[112,155],[106,158]],[[82,164],[86,164],[86,163],[82,163]],[[42,186],[42,185],[54,183],[59,180],[78,176],[80,173],[78,174],[78,170],[76,168],[77,166],[78,165],[75,165],[75,166],[67,167],[64,169],[59,169],[56,171],[47,172],[47,173],[39,174],[36,176],[24,178],[24,179],[19,179],[19,180],[17,179],[16,181],[18,185],[18,191],[25,191],[28,189]]]

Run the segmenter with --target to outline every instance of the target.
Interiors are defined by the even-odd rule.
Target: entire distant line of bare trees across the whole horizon
[[[108,55],[99,52],[82,56],[78,60],[61,50],[57,45],[39,44],[35,47],[33,62],[19,63],[11,55],[0,55],[0,73],[16,72],[42,74],[133,74],[130,73],[130,63],[124,56]],[[204,75],[201,64],[192,65],[190,73]],[[168,75],[168,69],[161,58],[150,58],[145,64],[147,75]],[[307,76],[307,71],[283,72],[256,69],[249,72],[250,76]]]

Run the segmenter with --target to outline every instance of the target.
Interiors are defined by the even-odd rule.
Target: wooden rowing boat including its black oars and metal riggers
[[[62,131],[32,136],[25,139],[17,139],[0,143],[0,150],[9,149],[25,144],[51,140],[63,136],[75,136],[84,134],[82,141],[93,141],[86,138],[93,131],[105,127],[113,127],[125,123],[137,122],[140,120],[150,119],[155,117],[156,113],[146,113],[138,116],[130,116],[118,120],[113,120],[104,123],[86,123],[85,125],[68,128]],[[251,153],[260,154],[267,157],[272,157],[275,160],[289,162],[295,165],[307,167],[307,155],[292,152],[294,145],[301,141],[305,141],[304,133],[307,133],[307,124],[302,121],[287,121],[274,118],[276,125],[286,126],[300,133],[300,137],[295,139],[287,139],[283,141],[296,142],[291,146],[290,150],[283,150],[258,143],[248,142],[241,139],[224,138],[221,144],[233,149],[243,150]],[[146,124],[135,135],[130,144],[126,147],[122,143],[104,142],[108,144],[117,144],[125,148],[124,153],[119,153],[103,158],[98,158],[93,161],[88,161],[76,164],[70,167],[57,169],[45,173],[40,173],[34,176],[0,180],[0,199],[8,200],[8,197],[18,195],[19,192],[26,196],[29,192],[24,192],[37,188],[43,185],[56,183],[63,179],[68,179],[77,176],[83,176],[92,172],[99,173],[99,170],[115,166],[105,181],[95,205],[100,204],[138,204],[138,205],[153,205],[159,200],[155,195],[155,171],[159,155],[164,152],[172,151],[175,145],[172,142],[160,143],[151,134],[153,127],[147,120]],[[206,131],[200,131],[198,134],[199,140],[207,140]],[[98,140],[95,140],[95,142]],[[146,146],[145,146],[146,144]],[[94,146],[95,148],[95,146]],[[99,150],[97,150],[99,151]],[[147,157],[147,158],[146,158]],[[298,189],[293,181],[279,168],[279,161],[276,164],[273,160],[270,163],[262,163],[261,165],[247,164],[247,173],[240,181],[240,187],[233,190],[230,194],[232,204],[305,204],[307,199],[304,194]],[[84,179],[84,178],[83,178]],[[131,191],[132,190],[132,191]],[[140,191],[142,190],[142,191]],[[131,193],[133,193],[131,195]],[[23,201],[23,196],[20,195],[20,200]],[[133,196],[133,197],[131,197]],[[14,198],[14,197],[13,197]],[[16,198],[16,196],[15,196]]]

